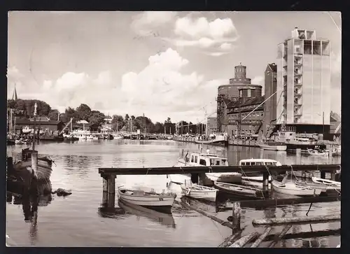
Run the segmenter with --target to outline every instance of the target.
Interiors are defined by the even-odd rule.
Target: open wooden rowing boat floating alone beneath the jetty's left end
[[[165,193],[164,190],[162,193],[156,193],[153,190],[145,192],[144,190],[127,190],[123,187],[118,188],[118,195],[119,199],[131,204],[162,209],[171,208],[176,197],[175,194]]]

